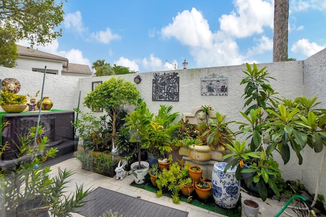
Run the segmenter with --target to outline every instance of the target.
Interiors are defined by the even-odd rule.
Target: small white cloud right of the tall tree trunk
[[[307,57],[310,57],[324,48],[325,46],[320,46],[315,42],[310,43],[308,39],[304,38],[295,42],[292,45],[291,50],[294,53],[300,52],[306,55]]]

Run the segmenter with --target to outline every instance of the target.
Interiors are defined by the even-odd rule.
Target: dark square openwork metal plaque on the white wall
[[[154,73],[153,101],[179,101],[178,73]]]

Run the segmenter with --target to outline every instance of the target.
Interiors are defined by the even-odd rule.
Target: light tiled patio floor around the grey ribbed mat
[[[195,217],[195,216],[225,216],[216,212],[212,212],[185,202],[181,202],[180,204],[174,204],[172,202],[172,199],[169,197],[161,197],[157,198],[155,193],[148,192],[145,189],[133,187],[130,185],[130,183],[133,181],[132,175],[127,175],[123,180],[116,180],[115,177],[107,177],[103,176],[97,173],[92,173],[90,171],[83,170],[80,166],[79,162],[75,158],[70,158],[68,160],[65,160],[55,166],[51,166],[52,173],[56,174],[58,171],[58,167],[61,169],[67,168],[67,169],[73,169],[75,171],[75,174],[70,177],[72,181],[69,183],[67,191],[74,191],[75,189],[75,183],[79,186],[81,184],[84,184],[84,189],[87,189],[89,187],[91,188],[97,188],[99,186],[111,189],[112,191],[117,191],[122,194],[126,194],[132,197],[141,197],[143,200],[148,200],[154,203],[158,203],[161,205],[173,207],[176,209],[184,210],[189,212],[188,217]],[[265,202],[263,202],[260,198],[255,198],[247,194],[246,192],[241,191],[241,200],[245,199],[252,199],[259,203],[260,205],[260,214],[258,215],[261,217],[269,217],[269,216],[275,216],[282,208],[282,206],[285,204],[285,200],[271,200],[267,199]],[[292,213],[295,215],[295,213],[291,209],[286,210],[289,213]],[[157,215],[156,215],[157,214]],[[153,216],[159,216],[159,213],[156,213]],[[74,217],[83,216],[77,213],[72,213]],[[243,214],[243,208],[242,208],[242,216],[245,216]],[[287,216],[284,213],[282,213],[281,216]],[[96,216],[98,217],[98,216]],[[141,216],[138,216],[141,217]]]

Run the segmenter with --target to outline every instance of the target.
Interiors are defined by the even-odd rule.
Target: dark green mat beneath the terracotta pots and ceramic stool
[[[150,181],[150,178],[148,176],[146,176],[144,184],[136,184],[133,181],[130,185],[134,186],[134,187],[143,188],[149,192],[156,193],[156,191],[157,191],[157,188],[152,184],[152,182]],[[163,194],[164,196],[172,198],[171,194],[169,192],[166,192],[166,193],[163,192],[163,193],[164,193]],[[226,216],[230,216],[230,217],[241,217],[241,194],[239,196],[239,200],[238,200],[236,207],[233,209],[225,209],[225,208],[218,206],[214,201],[212,192],[210,193],[210,196],[206,201],[200,200],[197,197],[195,191],[193,192],[192,196],[193,196],[193,200],[189,203],[194,206],[198,206],[198,207],[201,207],[201,208],[204,208],[204,209],[216,212],[216,213],[220,213],[220,214],[223,214]],[[187,197],[183,196],[182,193],[180,193],[180,200],[182,202],[187,202]],[[123,216],[123,217],[125,217],[125,216]]]

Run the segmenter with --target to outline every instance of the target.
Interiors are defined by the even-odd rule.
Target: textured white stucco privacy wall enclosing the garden
[[[294,99],[295,97],[306,95],[312,97],[316,93],[319,94],[319,101],[322,101],[321,107],[326,107],[326,91],[323,84],[325,78],[325,55],[326,49],[308,58],[305,61],[290,61],[279,63],[258,64],[261,69],[267,66],[270,76],[276,80],[270,80],[271,86],[280,96]],[[213,112],[219,111],[227,115],[226,121],[241,121],[239,111],[243,111],[244,100],[241,99],[244,85],[240,86],[241,79],[244,77],[243,70],[246,65],[211,67],[199,69],[174,70],[179,76],[179,101],[152,101],[152,79],[154,73],[169,73],[173,71],[147,72],[139,73],[142,82],[135,84],[141,92],[141,97],[146,101],[150,111],[157,113],[160,104],[172,105],[173,112],[179,112],[181,119],[183,112],[192,112],[196,107],[201,105],[210,105]],[[228,77],[228,95],[227,96],[201,96],[201,78],[209,75],[218,75]],[[126,80],[133,82],[135,74],[117,75],[124,77]],[[34,94],[42,88],[43,73],[23,71],[18,69],[9,69],[0,67],[0,78],[14,77],[21,83],[20,94]],[[80,108],[83,111],[89,111],[83,107],[83,98],[92,90],[92,82],[108,80],[112,76],[74,78],[60,75],[47,74],[45,79],[44,96],[49,96],[54,102],[53,108],[61,110],[72,110],[77,107],[78,95],[80,91]],[[129,111],[133,110],[133,106],[126,106]],[[97,116],[104,113],[96,113]],[[236,125],[232,125],[234,130]],[[240,138],[242,140],[242,138]],[[296,155],[292,154],[291,159],[286,166],[283,166],[282,159],[278,153],[274,153],[283,171],[282,176],[285,180],[301,180],[310,189],[310,193],[314,193],[316,179],[319,173],[319,162],[321,154],[310,153],[309,147],[306,147],[304,155],[304,164],[297,164]],[[323,176],[326,175],[323,169]],[[321,180],[320,194],[326,195],[326,181]]]

